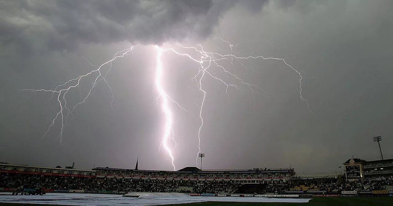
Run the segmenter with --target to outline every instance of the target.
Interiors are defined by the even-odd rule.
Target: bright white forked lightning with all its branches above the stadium
[[[217,37],[218,38],[218,37]],[[215,67],[218,69],[221,69],[224,73],[226,73],[229,77],[233,78],[233,80],[235,80],[235,82],[238,82],[239,84],[243,84],[244,86],[247,86],[248,89],[250,89],[250,91],[253,94],[259,94],[262,96],[266,96],[266,95],[270,95],[270,93],[265,92],[262,88],[258,87],[255,84],[250,84],[244,80],[242,80],[241,78],[239,78],[236,74],[231,73],[230,71],[228,71],[228,69],[226,69],[224,66],[222,66],[220,64],[220,61],[222,60],[228,60],[231,59],[231,64],[233,64],[233,60],[237,60],[239,62],[239,64],[241,64],[242,66],[244,66],[242,64],[242,60],[248,60],[248,59],[261,59],[261,60],[279,60],[281,62],[283,62],[285,64],[285,66],[290,67],[293,71],[295,71],[298,75],[299,75],[299,97],[301,100],[305,101],[307,104],[307,108],[308,111],[314,115],[314,113],[312,113],[312,111],[310,110],[310,106],[308,101],[303,98],[302,95],[302,80],[303,77],[301,75],[301,73],[295,69],[294,67],[290,66],[289,64],[286,63],[285,59],[283,58],[276,58],[276,57],[263,57],[263,56],[248,56],[248,57],[238,57],[236,55],[233,55],[233,47],[238,46],[239,44],[233,46],[233,44],[231,44],[229,41],[226,41],[222,38],[219,38],[221,41],[226,42],[230,49],[231,49],[231,53],[230,54],[220,54],[214,51],[211,52],[206,52],[203,48],[202,45],[198,44],[196,47],[186,47],[180,44],[176,44],[177,47],[181,48],[182,51],[183,50],[191,50],[191,51],[196,51],[197,53],[200,54],[200,58],[194,58],[191,55],[189,55],[188,53],[183,53],[183,52],[179,52],[176,49],[174,49],[174,47],[170,47],[170,48],[162,48],[162,47],[158,47],[158,46],[154,46],[156,51],[157,51],[157,55],[156,55],[156,73],[155,73],[155,77],[154,77],[154,82],[156,85],[156,89],[158,92],[158,97],[155,98],[156,104],[159,103],[160,100],[160,104],[161,104],[161,108],[163,111],[163,115],[165,117],[165,122],[164,124],[164,132],[162,134],[162,142],[160,144],[160,147],[163,146],[163,148],[165,149],[165,151],[168,153],[169,157],[171,158],[171,164],[174,168],[174,170],[176,170],[176,167],[174,165],[174,155],[173,155],[173,150],[171,149],[171,147],[168,145],[169,140],[173,140],[175,147],[176,148],[176,141],[174,140],[174,131],[173,131],[173,111],[171,111],[170,108],[170,102],[176,104],[176,106],[178,106],[179,108],[183,109],[184,111],[187,112],[187,110],[185,108],[183,108],[182,106],[180,106],[180,104],[178,104],[178,102],[176,102],[175,100],[173,100],[173,98],[169,97],[169,95],[167,94],[167,92],[165,91],[164,87],[163,87],[163,73],[165,68],[163,67],[163,62],[162,62],[162,58],[163,58],[163,53],[174,53],[175,55],[179,55],[181,57],[186,57],[189,60],[196,62],[197,64],[199,64],[199,70],[198,73],[196,73],[196,75],[192,78],[193,80],[195,80],[196,84],[198,85],[199,90],[202,92],[203,94],[203,98],[201,99],[200,102],[200,108],[199,108],[199,119],[200,119],[200,126],[198,128],[198,154],[201,152],[201,132],[204,126],[204,119],[203,119],[203,110],[204,110],[204,103],[205,103],[205,98],[206,98],[206,88],[204,88],[202,86],[202,80],[204,78],[207,77],[211,77],[214,80],[219,81],[220,83],[224,84],[224,86],[226,87],[225,89],[225,93],[228,97],[229,100],[229,93],[228,93],[228,89],[229,88],[234,88],[237,89],[239,91],[241,90],[241,87],[239,85],[237,85],[236,83],[230,84],[227,83],[226,80],[223,80],[222,78],[217,77],[216,75],[214,75],[213,73],[211,73],[211,71],[209,71],[209,69],[211,67]],[[246,43],[246,42],[242,42],[241,44]],[[166,46],[171,46],[171,44],[166,44]],[[53,120],[51,121],[50,126],[48,127],[47,131],[44,133],[44,135],[42,136],[42,138],[44,138],[47,133],[50,131],[51,127],[53,125],[55,125],[55,121],[60,118],[61,120],[61,130],[59,133],[59,138],[60,141],[62,141],[62,135],[63,135],[63,131],[64,131],[64,126],[66,125],[66,121],[68,118],[68,115],[72,114],[73,111],[77,108],[77,106],[84,104],[86,102],[86,99],[88,97],[90,97],[93,93],[94,93],[94,88],[97,85],[97,83],[99,83],[101,80],[104,80],[105,84],[110,88],[108,81],[106,80],[106,77],[110,71],[110,69],[112,69],[112,62],[114,60],[116,60],[117,58],[121,58],[124,57],[125,55],[127,55],[130,51],[132,51],[134,49],[135,46],[129,47],[127,49],[124,49],[122,51],[118,51],[114,57],[105,62],[104,64],[101,64],[101,66],[95,66],[93,65],[91,62],[89,62],[92,66],[97,67],[97,69],[90,71],[89,73],[86,73],[85,75],[81,75],[77,78],[73,78],[71,80],[68,80],[67,82],[61,83],[60,85],[58,85],[55,89],[23,89],[22,91],[32,91],[33,95],[39,91],[41,92],[49,92],[52,93],[52,97],[57,98],[57,102],[59,102],[60,104],[60,109],[57,112],[57,114],[55,115],[55,118],[53,118]],[[87,60],[87,59],[86,59]],[[103,73],[101,73],[101,68],[107,64],[110,64],[110,67],[108,69],[108,71],[103,75]],[[245,66],[244,66],[245,67]],[[77,103],[75,106],[73,106],[72,109],[69,109],[67,107],[67,101],[66,101],[66,94],[68,93],[68,91],[70,91],[73,88],[79,87],[79,84],[81,82],[81,80],[84,77],[87,77],[89,75],[93,75],[93,73],[97,73],[97,77],[95,78],[94,82],[92,82],[92,87],[90,88],[89,93],[86,95],[86,97],[84,97],[81,102]],[[113,92],[112,92],[112,88],[110,88],[110,91],[112,93],[112,102],[111,102],[111,107],[113,109],[113,102],[114,102],[114,96],[113,96]],[[30,97],[29,97],[30,98]],[[64,111],[67,112],[67,114],[64,114]],[[173,148],[173,149],[174,149]],[[198,157],[198,155],[197,155]],[[196,158],[196,165],[198,165],[198,158]]]

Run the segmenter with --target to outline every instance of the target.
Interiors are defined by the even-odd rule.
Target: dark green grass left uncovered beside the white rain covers
[[[392,197],[314,197],[309,203],[202,202],[171,206],[393,206]],[[0,203],[0,206],[60,206]]]

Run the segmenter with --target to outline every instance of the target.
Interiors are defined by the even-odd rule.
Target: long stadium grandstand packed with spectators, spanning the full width
[[[0,191],[44,187],[46,192],[129,192],[393,196],[393,160],[343,163],[345,173],[297,175],[294,168],[178,171],[97,167],[92,170],[0,164]],[[342,193],[343,192],[343,193]]]

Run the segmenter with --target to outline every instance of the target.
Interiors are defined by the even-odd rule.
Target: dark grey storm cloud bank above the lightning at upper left
[[[6,0],[0,2],[0,40],[25,51],[73,49],[79,43],[160,44],[204,39],[239,0]],[[242,1],[261,11],[265,0]]]

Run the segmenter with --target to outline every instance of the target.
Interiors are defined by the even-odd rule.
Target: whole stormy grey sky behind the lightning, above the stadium
[[[392,1],[0,1],[0,161],[77,168],[95,166],[171,170],[161,149],[164,115],[156,106],[156,49],[164,42],[196,46],[239,57],[281,60],[222,60],[220,65],[270,95],[209,68],[241,91],[206,77],[202,117],[203,165],[209,169],[292,167],[298,173],[336,171],[352,155],[379,158],[372,137],[381,135],[384,158],[393,158]],[[84,75],[130,45],[112,64],[108,84],[95,87],[68,117],[62,144],[61,119],[50,93],[59,82]],[[239,44],[239,45],[238,45]],[[236,46],[238,45],[238,46]],[[172,45],[176,50],[195,51]],[[84,58],[83,58],[84,57]],[[165,91],[188,112],[170,104],[177,146],[176,169],[195,166],[200,104],[195,80],[200,65],[163,55]],[[109,65],[102,68],[108,70]],[[72,108],[97,77],[83,78],[66,94]],[[254,90],[257,89],[254,87]],[[31,97],[31,98],[29,98]],[[64,103],[64,102],[63,102]],[[64,113],[66,115],[66,113]],[[49,123],[49,124],[48,124]]]

